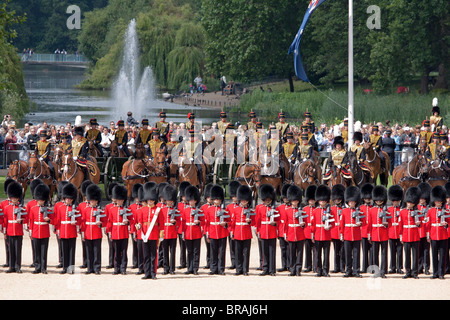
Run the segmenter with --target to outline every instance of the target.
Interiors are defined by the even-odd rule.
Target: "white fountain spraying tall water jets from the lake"
[[[124,36],[124,52],[119,75],[112,87],[115,119],[125,119],[128,111],[138,121],[156,100],[153,71],[146,67],[140,76],[139,39],[136,20],[131,20]]]

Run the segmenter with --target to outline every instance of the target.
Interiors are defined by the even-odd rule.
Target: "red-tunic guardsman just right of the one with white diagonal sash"
[[[166,203],[161,209],[164,217],[164,274],[175,274],[175,253],[177,247],[177,229],[181,223],[181,214],[177,209],[177,189],[171,185],[164,188],[162,197]],[[161,228],[162,229],[162,228]]]

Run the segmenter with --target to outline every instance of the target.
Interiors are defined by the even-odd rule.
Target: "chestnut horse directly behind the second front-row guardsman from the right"
[[[424,180],[423,177],[428,174],[428,171],[429,162],[425,154],[418,152],[410,161],[394,168],[392,183],[400,185],[406,191],[410,187],[419,185]]]

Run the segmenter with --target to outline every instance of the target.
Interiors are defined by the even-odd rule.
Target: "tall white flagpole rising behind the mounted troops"
[[[353,145],[353,0],[348,0],[348,148]]]

